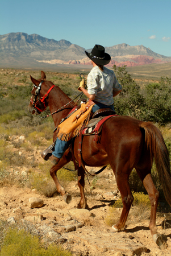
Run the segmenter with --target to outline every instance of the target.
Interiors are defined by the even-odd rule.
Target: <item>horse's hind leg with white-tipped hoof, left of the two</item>
[[[122,196],[122,203],[123,203],[123,209],[122,209],[122,214],[120,216],[120,219],[117,224],[112,226],[112,231],[118,232],[120,230],[124,230],[128,213],[130,212],[131,204],[134,200],[134,197],[132,196],[130,185],[128,183],[129,175],[122,172],[120,174],[115,174],[115,177],[116,177],[116,183],[118,185],[118,189],[120,191],[120,195]]]

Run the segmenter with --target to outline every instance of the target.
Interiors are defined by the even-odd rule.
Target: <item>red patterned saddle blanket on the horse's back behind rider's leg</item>
[[[106,120],[111,117],[118,117],[118,115],[108,115],[107,117],[91,119],[90,122],[82,130],[82,135],[90,135],[90,134],[98,135],[101,132],[102,127],[106,122]]]

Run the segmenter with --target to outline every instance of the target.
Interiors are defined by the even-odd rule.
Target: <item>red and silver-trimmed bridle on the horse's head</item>
[[[47,93],[45,93],[44,96],[40,98],[40,90],[41,90],[41,85],[43,84],[43,82],[44,81],[41,81],[39,86],[34,84],[34,87],[36,88],[36,91],[35,91],[34,100],[32,100],[32,97],[31,97],[31,103],[32,103],[32,108],[36,112],[37,112],[37,110],[39,112],[43,112],[47,108],[47,106],[45,105],[45,99],[48,97],[51,90],[55,87],[55,85],[52,85],[51,88],[47,91]],[[38,100],[36,101],[37,96],[38,96]]]

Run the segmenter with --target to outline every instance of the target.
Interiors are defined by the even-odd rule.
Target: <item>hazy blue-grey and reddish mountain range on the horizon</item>
[[[166,57],[153,52],[144,46],[129,46],[117,44],[105,47],[111,55],[112,65],[134,67],[151,63],[171,62],[171,57]],[[87,49],[88,52],[91,49]],[[72,44],[67,40],[56,41],[43,36],[17,32],[0,35],[0,62],[1,67],[36,67],[41,65],[83,64],[90,65],[89,58],[85,55],[85,48]]]

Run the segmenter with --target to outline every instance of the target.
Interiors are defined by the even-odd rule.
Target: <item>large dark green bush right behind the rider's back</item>
[[[171,79],[161,77],[159,82],[141,86],[132,79],[123,67],[113,66],[122,85],[122,92],[115,98],[115,110],[119,115],[130,115],[142,121],[164,125],[171,121]]]

